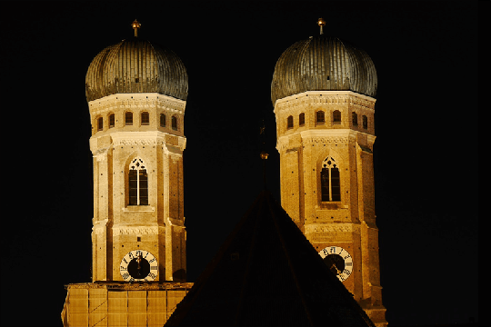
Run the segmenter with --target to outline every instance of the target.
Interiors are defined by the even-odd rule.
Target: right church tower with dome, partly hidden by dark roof
[[[286,213],[377,326],[386,326],[376,227],[376,69],[321,34],[290,46],[271,86]]]

